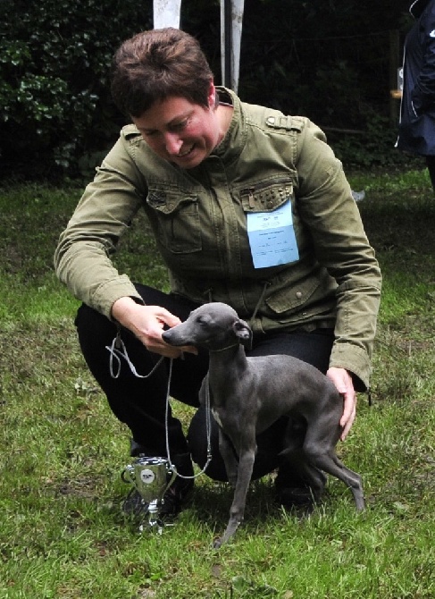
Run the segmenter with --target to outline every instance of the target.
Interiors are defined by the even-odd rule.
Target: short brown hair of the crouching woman
[[[113,59],[113,101],[135,118],[166,97],[185,97],[207,106],[212,80],[197,39],[173,28],[138,33]]]

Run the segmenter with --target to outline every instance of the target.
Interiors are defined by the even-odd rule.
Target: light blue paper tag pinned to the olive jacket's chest
[[[299,259],[290,200],[272,212],[248,212],[247,236],[255,268]]]

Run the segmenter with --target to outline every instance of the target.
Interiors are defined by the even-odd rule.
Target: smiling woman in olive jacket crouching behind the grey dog
[[[88,367],[117,418],[130,427],[131,455],[166,456],[168,360],[148,378],[123,361],[109,367],[117,330],[141,374],[159,356],[175,359],[171,396],[198,407],[207,355],[172,348],[163,328],[199,304],[224,301],[254,331],[250,355],[288,353],[330,376],[343,395],[344,439],[356,391],[369,384],[381,274],[339,161],[305,118],[247,105],[215,87],[195,38],[151,30],[114,58],[115,103],[133,124],[97,170],[55,253],[56,272],[83,301],[76,324]],[[118,274],[110,261],[121,234],[144,208],[168,266],[165,294]],[[184,359],[178,359],[183,355]],[[287,421],[258,437],[254,477],[279,468],[280,502],[305,502],[296,465],[280,463]],[[304,422],[294,422],[299,440]],[[171,460],[193,472],[206,460],[205,410],[188,440],[169,418]],[[209,477],[225,480],[213,425]],[[192,481],[178,477],[165,510],[177,513]]]

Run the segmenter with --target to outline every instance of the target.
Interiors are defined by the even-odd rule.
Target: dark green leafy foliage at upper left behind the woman
[[[12,0],[0,4],[0,152],[4,166],[77,171],[120,128],[108,76],[121,41],[151,27],[151,2]]]

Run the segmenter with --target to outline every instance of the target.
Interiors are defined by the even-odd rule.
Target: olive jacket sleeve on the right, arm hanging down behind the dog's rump
[[[381,299],[381,271],[339,160],[313,123],[302,132],[297,204],[317,260],[337,282],[337,320],[330,367],[368,388]]]

